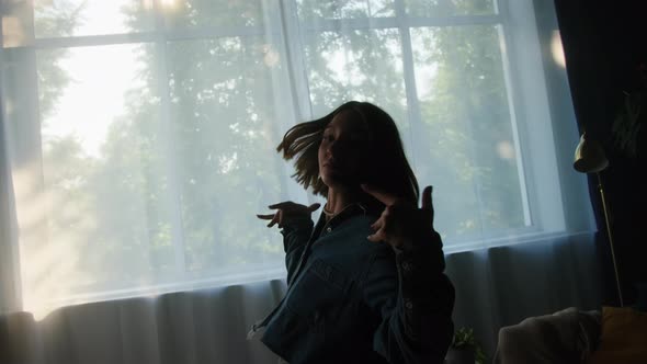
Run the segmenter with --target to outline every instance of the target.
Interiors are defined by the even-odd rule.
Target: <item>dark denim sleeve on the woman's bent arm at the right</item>
[[[373,349],[396,363],[443,363],[452,342],[454,286],[434,231],[405,250],[381,250],[363,282],[365,304],[381,316]]]

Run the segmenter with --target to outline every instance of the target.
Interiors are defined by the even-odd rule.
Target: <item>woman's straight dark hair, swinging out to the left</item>
[[[371,134],[370,161],[359,171],[361,183],[417,203],[418,181],[407,161],[396,123],[384,110],[368,102],[349,101],[330,114],[297,124],[285,133],[276,150],[283,152],[286,160],[295,158],[293,177],[296,181],[305,189],[311,186],[315,194],[328,195],[328,186],[319,178],[318,150],[324,129],[342,112],[351,112],[352,117],[361,118]]]

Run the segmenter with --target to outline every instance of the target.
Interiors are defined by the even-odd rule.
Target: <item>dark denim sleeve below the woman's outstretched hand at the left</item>
[[[285,251],[285,268],[287,269],[287,285],[292,284],[294,273],[313,234],[314,223],[309,216],[295,218],[283,226],[283,250]]]

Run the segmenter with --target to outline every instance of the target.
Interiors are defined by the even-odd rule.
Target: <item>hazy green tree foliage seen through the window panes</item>
[[[488,1],[405,3],[423,16],[493,11]],[[386,0],[296,4],[304,27],[321,19],[396,14]],[[133,30],[148,21],[141,4],[123,11]],[[281,120],[282,100],[294,92],[281,81],[292,71],[284,46],[276,32],[253,31],[271,29],[275,11],[260,1],[183,1],[164,15],[169,31],[248,31],[141,44],[138,81],[125,90],[124,114],[112,122],[100,156],[89,156],[73,136],[44,149],[48,189],[64,211],[76,211],[54,215],[52,229],[81,237],[78,266],[91,284],[163,282],[178,272],[213,276],[281,260],[280,237],[254,219],[268,204],[287,198],[274,147],[285,126],[297,122]],[[52,16],[43,29],[70,34],[73,19]],[[408,153],[419,179],[435,185],[436,226],[446,237],[521,227],[520,166],[501,153],[514,143],[498,27],[408,31],[412,66],[428,69],[416,79],[420,120],[409,120],[416,113],[407,102],[401,31],[305,32],[305,48],[293,52],[303,50],[315,115],[351,99],[389,112],[405,143],[416,145]],[[56,67],[64,55],[54,49],[39,59],[44,120],[72,77]]]

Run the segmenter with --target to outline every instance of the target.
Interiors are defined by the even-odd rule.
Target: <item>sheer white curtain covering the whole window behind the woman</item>
[[[315,200],[274,148],[291,125],[351,99],[396,118],[420,183],[434,185],[458,322],[491,339],[524,314],[594,300],[589,291],[584,300],[556,294],[534,310],[495,315],[511,296],[497,302],[492,287],[518,272],[492,269],[484,250],[525,242],[533,257],[548,252],[519,275],[533,280],[542,264],[566,262],[548,258],[561,257],[552,254],[556,241],[571,247],[560,252],[591,247],[581,234],[591,230],[586,185],[568,167],[577,132],[564,69],[549,53],[558,36],[547,36],[556,27],[546,2],[10,0],[1,9],[0,309],[43,319],[45,352],[84,348],[81,322],[106,309],[121,321],[109,315],[99,327],[121,329],[98,338],[132,353],[126,342],[152,343],[167,319],[185,317],[175,304],[159,309],[182,292],[215,300],[229,299],[217,287],[265,293],[249,317],[194,307],[195,322],[218,315],[212,331],[186,327],[198,337],[261,316],[277,291],[252,283],[282,278],[284,269],[279,235],[254,214]],[[592,255],[568,257],[587,266],[575,271],[594,271]],[[571,274],[568,266],[559,269]],[[479,280],[462,278],[466,270]],[[461,298],[484,285],[489,308],[475,317]],[[228,305],[249,304],[236,297]],[[70,306],[82,303],[94,304]],[[133,338],[135,328],[115,322],[137,317],[138,303],[155,319],[136,321],[148,329]],[[43,339],[61,332],[65,344]],[[214,334],[217,345],[228,342]],[[173,362],[154,349],[146,362]],[[213,350],[183,362],[234,357]],[[71,357],[61,355],[50,357]],[[89,360],[81,356],[70,362]],[[257,362],[249,357],[227,362]]]

